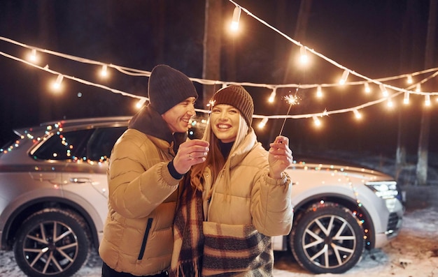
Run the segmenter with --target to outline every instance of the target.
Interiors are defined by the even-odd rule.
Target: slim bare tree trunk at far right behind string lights
[[[433,51],[435,49],[435,30],[437,24],[437,1],[430,0],[428,36],[426,38],[425,68],[431,68],[433,64]],[[417,185],[425,186],[428,183],[428,151],[430,133],[430,110],[423,109],[420,126],[420,138],[418,141],[418,162],[416,167]]]

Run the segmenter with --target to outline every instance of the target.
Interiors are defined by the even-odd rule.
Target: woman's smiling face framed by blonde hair
[[[211,129],[216,137],[224,143],[236,140],[239,120],[240,112],[233,106],[220,104],[211,110]]]

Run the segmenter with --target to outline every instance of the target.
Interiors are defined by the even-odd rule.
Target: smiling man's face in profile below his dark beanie
[[[162,114],[172,133],[185,133],[189,129],[189,121],[196,114],[195,97],[189,97]]]

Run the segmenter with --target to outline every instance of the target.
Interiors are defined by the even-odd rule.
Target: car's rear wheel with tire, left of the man
[[[83,218],[73,211],[38,211],[17,230],[15,260],[28,276],[72,276],[88,257],[86,230]]]

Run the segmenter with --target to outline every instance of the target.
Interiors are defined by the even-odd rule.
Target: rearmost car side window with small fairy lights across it
[[[74,130],[49,137],[32,154],[41,160],[76,160],[83,158],[84,147],[92,130]]]

